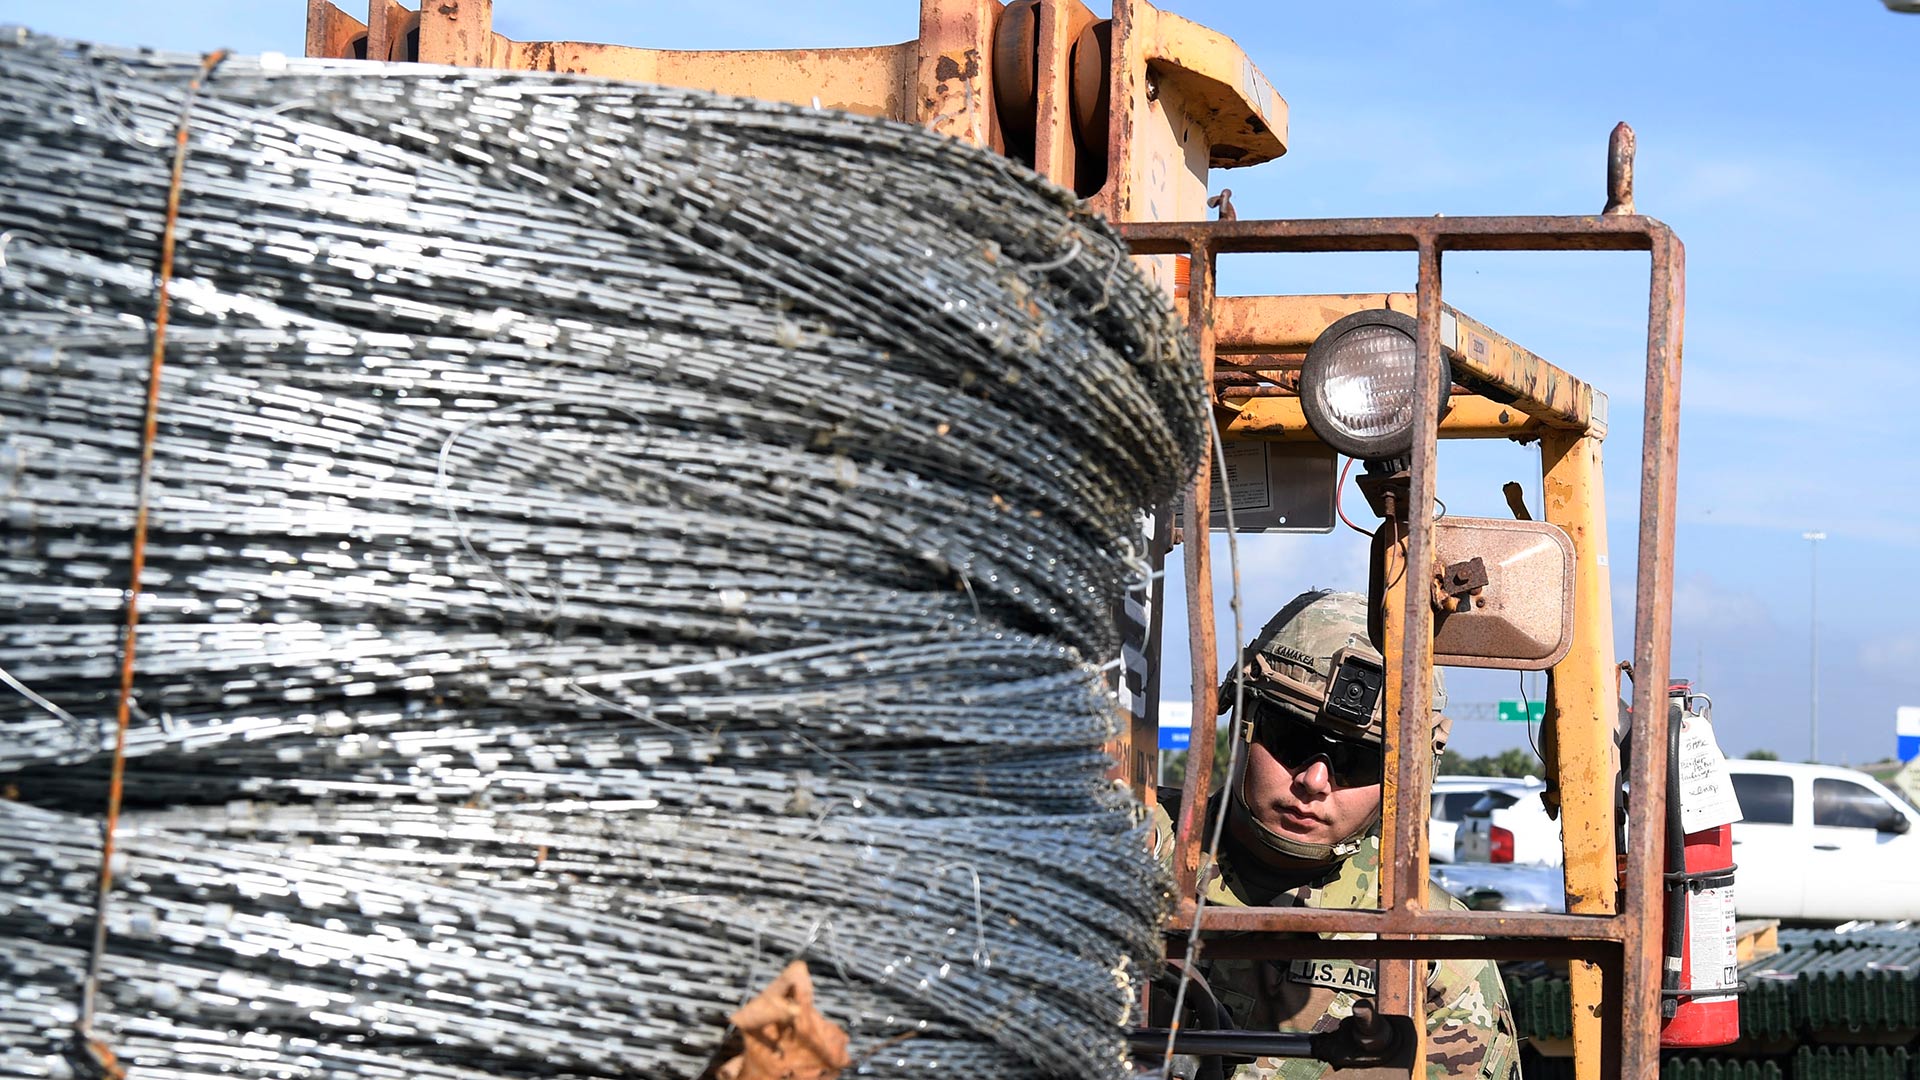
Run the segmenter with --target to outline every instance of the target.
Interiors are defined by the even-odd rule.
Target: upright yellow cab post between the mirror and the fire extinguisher
[[[1540,440],[1546,521],[1559,525],[1574,546],[1574,634],[1567,657],[1553,665],[1542,753],[1548,757],[1549,798],[1559,799],[1567,846],[1567,911],[1611,915],[1617,909],[1613,838],[1613,778],[1619,719],[1613,655],[1613,594],[1607,582],[1607,517],[1597,436],[1548,429]],[[1601,972],[1574,961],[1572,1043],[1574,1076],[1599,1080]]]

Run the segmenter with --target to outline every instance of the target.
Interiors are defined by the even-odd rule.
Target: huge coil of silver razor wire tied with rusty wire
[[[1114,1076],[1114,605],[1198,369],[1114,234],[843,113],[0,44],[0,1072]]]

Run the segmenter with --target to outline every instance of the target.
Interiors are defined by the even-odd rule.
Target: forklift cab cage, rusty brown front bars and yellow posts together
[[[1630,133],[1615,135],[1615,200],[1630,208],[1626,167]],[[1569,913],[1503,913],[1430,909],[1427,890],[1428,769],[1421,753],[1430,728],[1432,603],[1423,588],[1388,590],[1386,774],[1380,807],[1380,909],[1331,911],[1309,907],[1206,907],[1198,911],[1196,874],[1206,832],[1208,776],[1213,740],[1188,748],[1187,792],[1181,799],[1175,876],[1175,928],[1190,928],[1196,913],[1204,930],[1242,932],[1208,940],[1206,955],[1354,957],[1380,959],[1379,1005],[1419,1024],[1423,997],[1411,978],[1413,961],[1446,957],[1574,961],[1574,1053],[1580,1076],[1651,1076],[1659,1070],[1661,970],[1661,832],[1632,830],[1624,851],[1622,903],[1615,901],[1617,851],[1613,828],[1613,730],[1617,680],[1605,561],[1605,500],[1601,490],[1603,419],[1594,415],[1594,392],[1584,382],[1524,350],[1442,350],[1440,271],[1446,252],[1649,252],[1651,288],[1645,367],[1645,427],[1642,434],[1640,550],[1634,598],[1634,715],[1665,715],[1667,653],[1670,644],[1672,511],[1680,417],[1680,336],[1686,254],[1663,223],[1636,213],[1597,217],[1402,217],[1334,221],[1212,221],[1139,223],[1121,233],[1137,256],[1190,259],[1187,319],[1215,394],[1240,407],[1229,434],[1242,438],[1302,438],[1298,402],[1284,396],[1242,396],[1246,386],[1217,380],[1221,354],[1288,348],[1292,323],[1281,315],[1302,302],[1334,309],[1340,298],[1215,298],[1213,279],[1223,254],[1258,252],[1417,252],[1417,356],[1423,379],[1413,404],[1411,496],[1407,500],[1405,565],[1432,563],[1436,440],[1538,436],[1546,519],[1565,528],[1576,550],[1576,628],[1567,657],[1551,667],[1548,726],[1553,732]],[[1233,317],[1221,317],[1223,309]],[[1265,309],[1273,319],[1261,319]],[[1254,317],[1248,317],[1254,313]],[[1331,319],[1329,319],[1331,321]],[[1271,327],[1271,329],[1263,329]],[[1225,329],[1225,334],[1223,334]],[[1292,331],[1298,338],[1298,331]],[[1457,373],[1490,388],[1484,396],[1453,398],[1440,419],[1440,379]],[[1476,400],[1478,398],[1478,400]],[[1269,405],[1281,405],[1273,407]],[[1523,413],[1524,419],[1511,417]],[[1505,419],[1490,419],[1505,413]],[[1459,417],[1455,423],[1453,417]],[[1450,430],[1452,429],[1452,430]],[[1213,640],[1213,569],[1206,536],[1212,469],[1202,467],[1183,507],[1190,523],[1185,544],[1188,632],[1192,642],[1192,730],[1210,732],[1219,686]],[[1405,580],[1405,577],[1404,577]],[[1135,730],[1135,742],[1152,738]],[[1628,817],[1665,821],[1667,742],[1657,724],[1634,724],[1630,736]],[[1411,813],[1409,813],[1411,811]],[[1258,936],[1248,936],[1254,932]],[[1377,934],[1375,940],[1329,942],[1317,934]],[[1461,940],[1459,936],[1471,936]],[[1594,1005],[1613,1005],[1594,1009]],[[1586,1005],[1586,1007],[1582,1007]],[[1421,1055],[1423,1059],[1425,1055]]]

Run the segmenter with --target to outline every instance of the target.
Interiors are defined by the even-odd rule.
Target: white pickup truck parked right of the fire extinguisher
[[[1734,909],[1755,919],[1920,919],[1920,811],[1866,773],[1728,761]]]

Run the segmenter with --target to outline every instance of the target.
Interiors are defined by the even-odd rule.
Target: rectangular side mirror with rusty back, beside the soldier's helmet
[[[1373,540],[1367,632],[1380,638],[1380,596],[1386,590],[1386,532]],[[1572,648],[1572,538],[1546,521],[1444,517],[1434,523],[1434,561],[1459,567],[1478,584],[1478,596],[1457,611],[1434,613],[1434,663],[1546,671]],[[1469,571],[1471,567],[1471,571]],[[1448,582],[1436,582],[1434,590]]]

